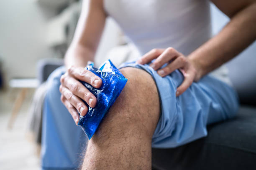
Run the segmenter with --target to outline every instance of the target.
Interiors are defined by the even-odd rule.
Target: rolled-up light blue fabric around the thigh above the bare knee
[[[179,97],[175,93],[183,82],[183,75],[175,70],[161,77],[149,65],[135,62],[123,67],[136,67],[148,72],[156,82],[161,105],[161,116],[152,138],[153,148],[173,148],[207,135],[206,125],[227,120],[236,115],[236,91],[212,76],[205,76]]]

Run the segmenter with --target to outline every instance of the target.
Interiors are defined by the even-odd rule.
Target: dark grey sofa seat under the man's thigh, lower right
[[[172,149],[152,148],[155,170],[256,170],[256,107],[208,127],[208,136]]]

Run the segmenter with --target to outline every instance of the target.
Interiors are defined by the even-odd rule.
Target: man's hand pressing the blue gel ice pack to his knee
[[[82,102],[84,100],[90,107],[95,107],[97,103],[96,97],[78,80],[89,83],[95,88],[102,85],[100,77],[95,75],[83,67],[70,67],[68,71],[61,76],[61,85],[59,91],[61,92],[61,101],[69,110],[74,121],[78,122],[79,113],[84,116],[87,113],[87,106]],[[82,99],[82,100],[81,100]]]

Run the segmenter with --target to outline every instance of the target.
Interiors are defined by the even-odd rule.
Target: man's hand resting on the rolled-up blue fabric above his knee
[[[181,95],[185,90],[187,90],[193,81],[198,81],[200,79],[199,76],[197,76],[197,70],[193,63],[172,47],[166,49],[153,49],[143,55],[137,63],[146,64],[153,59],[156,60],[152,62],[150,66],[154,70],[158,70],[157,73],[161,77],[169,75],[176,69],[179,69],[184,75],[184,81],[177,88],[176,96]],[[166,63],[168,63],[166,67],[159,69]]]

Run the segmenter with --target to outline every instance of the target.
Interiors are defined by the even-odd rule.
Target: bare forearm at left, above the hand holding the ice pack
[[[93,61],[107,15],[102,0],[83,1],[82,12],[72,43],[65,55],[65,66],[85,67]]]

